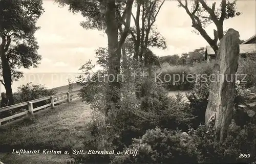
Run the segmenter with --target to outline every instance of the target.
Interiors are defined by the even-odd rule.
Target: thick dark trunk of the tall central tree
[[[120,100],[119,90],[121,85],[117,76],[120,73],[121,49],[118,49],[118,22],[115,12],[115,1],[107,2],[106,7],[106,34],[108,35],[109,48],[108,102],[117,105]],[[106,114],[108,111],[109,108],[106,110]]]

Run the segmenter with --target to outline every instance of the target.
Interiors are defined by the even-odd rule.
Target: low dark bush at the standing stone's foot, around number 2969
[[[191,143],[201,152],[198,156],[200,163],[255,162],[255,124],[240,127],[232,121],[229,135],[222,143],[211,135],[205,125],[191,135]],[[241,158],[240,154],[250,154],[250,157]]]

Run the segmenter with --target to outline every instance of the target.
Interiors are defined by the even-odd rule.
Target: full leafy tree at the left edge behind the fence
[[[23,76],[18,69],[36,67],[41,59],[37,54],[38,45],[34,33],[39,29],[36,21],[44,9],[42,0],[1,0],[0,11],[1,83],[6,89],[8,105],[12,105],[11,85]]]

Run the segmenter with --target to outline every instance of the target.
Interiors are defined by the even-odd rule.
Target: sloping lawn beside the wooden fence
[[[67,161],[68,155],[22,154],[15,158],[16,154],[9,153],[12,152],[12,149],[40,149],[40,151],[54,149],[68,150],[69,152],[73,149],[82,149],[83,140],[87,136],[87,123],[90,120],[90,106],[76,100],[70,104],[61,104],[54,109],[41,111],[34,118],[3,126],[1,127],[1,153],[4,156],[1,157],[1,161],[19,164],[29,163],[28,158],[31,158],[29,161],[37,160],[32,163],[42,161],[58,163],[51,158]]]

